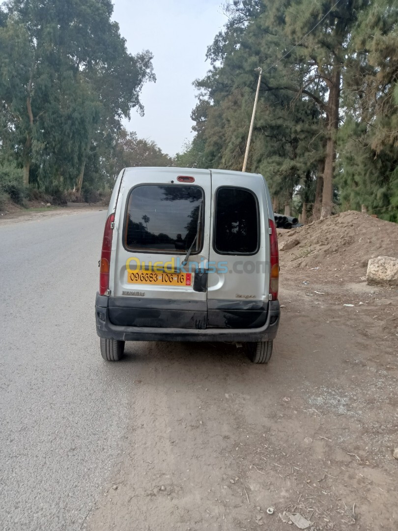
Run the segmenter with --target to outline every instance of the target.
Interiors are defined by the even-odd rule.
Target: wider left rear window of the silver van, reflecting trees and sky
[[[203,190],[193,185],[139,185],[130,192],[125,228],[125,246],[134,251],[186,253],[198,230]],[[198,234],[192,254],[202,249]]]

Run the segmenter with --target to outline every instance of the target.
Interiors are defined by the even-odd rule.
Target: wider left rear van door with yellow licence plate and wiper
[[[210,209],[209,170],[126,169],[115,218],[111,322],[206,328],[201,270],[209,262]]]

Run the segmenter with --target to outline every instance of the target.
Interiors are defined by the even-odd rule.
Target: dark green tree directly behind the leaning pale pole
[[[207,164],[240,170],[257,84],[254,69],[274,61],[280,37],[271,31],[264,2],[235,2],[228,15],[207,53],[212,69],[195,83],[199,102],[193,118]],[[248,167],[267,178],[275,208],[279,203],[289,211],[293,191],[307,182],[308,173],[316,175],[323,156],[322,115],[313,99],[286,90],[285,76],[277,79],[278,74],[272,74],[273,83],[268,74],[262,78]]]

